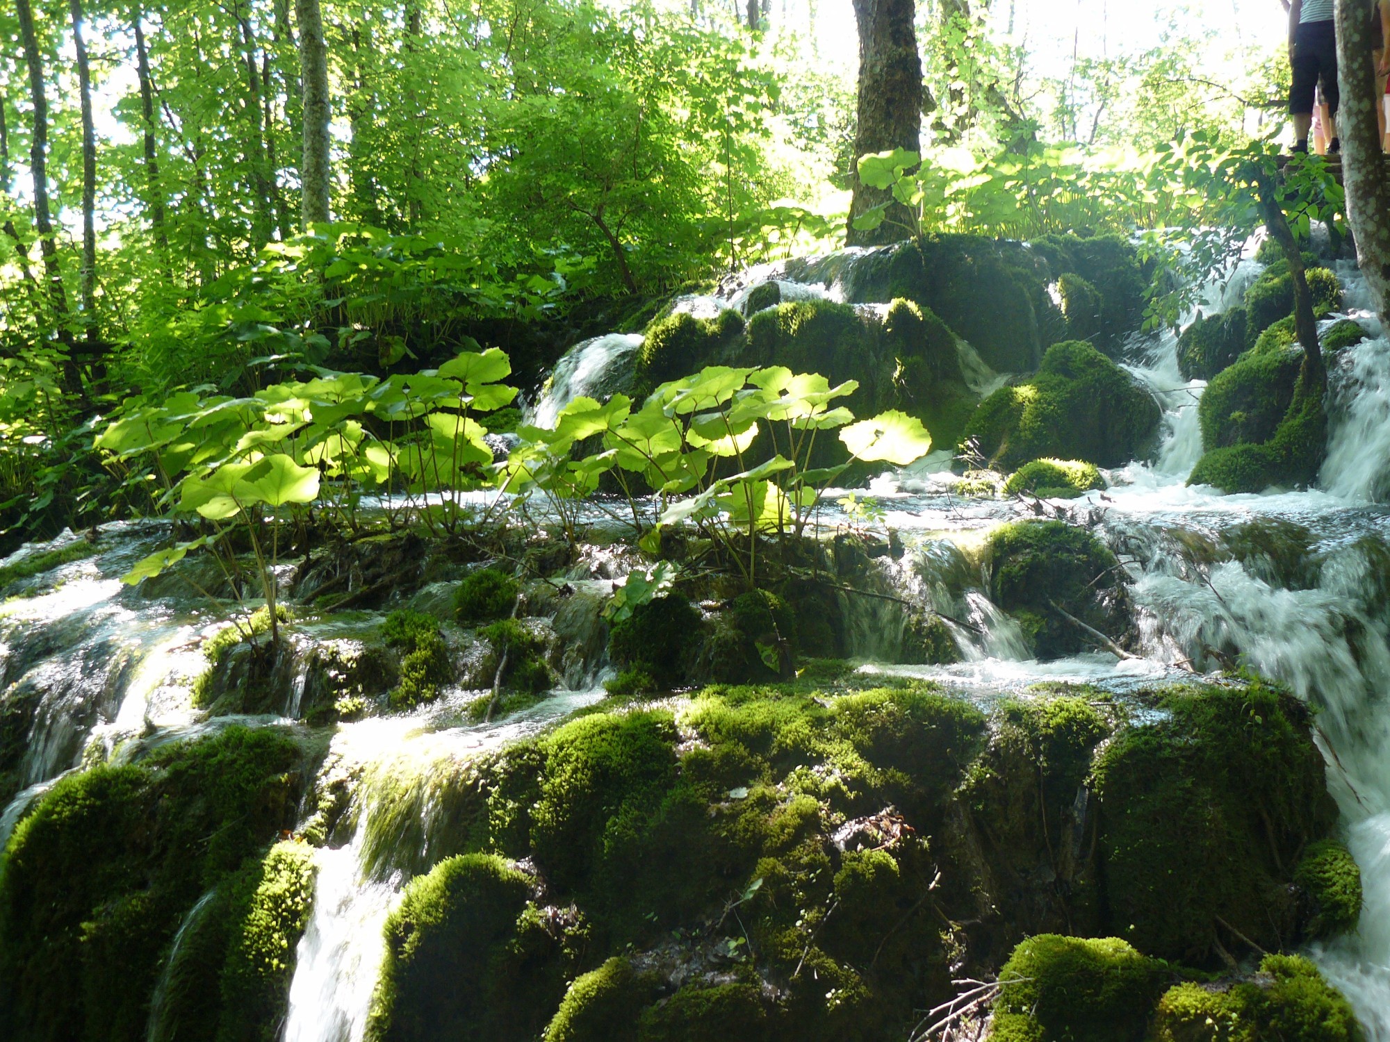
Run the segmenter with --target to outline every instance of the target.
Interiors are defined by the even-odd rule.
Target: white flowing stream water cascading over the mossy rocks
[[[769,271],[763,278],[784,274]],[[1233,286],[1251,274],[1252,265],[1243,264]],[[1355,271],[1340,274],[1348,307],[1364,306]],[[780,285],[781,297],[835,292],[794,286]],[[744,283],[684,306],[739,307],[751,289]],[[1232,293],[1232,286],[1213,289],[1205,311],[1220,310]],[[1354,317],[1375,325],[1364,311]],[[609,393],[639,345],[641,336],[613,335],[575,347],[557,365],[531,418],[553,422],[575,396]],[[955,635],[963,661],[874,664],[891,656],[894,611],[901,629],[901,610],[860,597],[849,603],[855,656],[866,670],[931,677],[966,693],[1022,689],[1044,679],[1125,690],[1240,659],[1286,682],[1319,710],[1316,735],[1329,785],[1365,885],[1359,931],[1314,946],[1309,954],[1352,1002],[1368,1038],[1390,1042],[1390,342],[1375,336],[1329,364],[1330,442],[1318,488],[1265,495],[1222,496],[1187,486],[1201,454],[1197,402],[1204,385],[1179,375],[1172,335],[1137,342],[1131,357],[1137,360],[1131,371],[1165,408],[1162,443],[1150,458],[1111,472],[1105,492],[1048,507],[1093,524],[1129,568],[1141,656],[1030,661],[1017,625],[990,603],[979,577],[960,581],[967,571],[960,546],[1031,511],[1016,502],[951,495],[951,475],[940,465],[874,483],[887,525],[902,534],[908,547],[901,560],[883,567],[901,596],[960,621]],[[1247,538],[1251,532],[1258,538]],[[200,668],[200,636],[224,618],[186,590],[132,590],[118,582],[163,535],[157,522],[111,525],[93,556],[42,577],[38,596],[0,606],[0,685],[26,692],[32,707],[26,752],[11,786],[18,795],[0,813],[0,842],[54,778],[93,749],[121,756],[139,743],[210,725],[192,710],[188,684]],[[614,571],[621,572],[621,561],[596,552],[573,579],[581,590],[585,584],[598,590]],[[432,786],[446,785],[450,767],[480,750],[534,734],[598,700],[602,654],[591,640],[566,671],[573,690],[496,724],[460,724],[452,711],[456,702],[445,699],[411,716],[338,727],[329,761],[359,781],[343,835],[318,852],[286,1042],[359,1042],[382,954],[382,924],[416,866],[430,861],[432,809],[439,804]],[[302,692],[303,675],[296,682]],[[404,804],[418,814],[395,821],[402,793],[410,795]],[[381,835],[395,839],[384,847]]]

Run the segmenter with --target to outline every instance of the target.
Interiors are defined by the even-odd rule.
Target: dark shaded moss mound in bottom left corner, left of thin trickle
[[[228,728],[54,785],[0,875],[0,1036],[143,1041],[174,934],[292,824],[302,763],[278,729]]]

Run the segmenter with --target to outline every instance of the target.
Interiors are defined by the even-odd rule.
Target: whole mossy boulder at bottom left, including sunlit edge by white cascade
[[[174,967],[197,1002],[181,1009],[174,988],[170,1023],[271,1038],[311,868],[265,850],[293,824],[306,766],[284,731],[228,728],[54,785],[0,874],[0,1036],[145,1042],[161,961],[206,899],[220,907],[204,906],[200,957]]]

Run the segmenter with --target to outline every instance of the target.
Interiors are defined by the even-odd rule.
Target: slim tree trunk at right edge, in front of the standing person
[[[1341,85],[1341,174],[1347,222],[1357,240],[1357,264],[1366,276],[1380,322],[1390,329],[1390,183],[1376,106],[1372,7],[1366,0],[1337,0],[1337,67]]]

